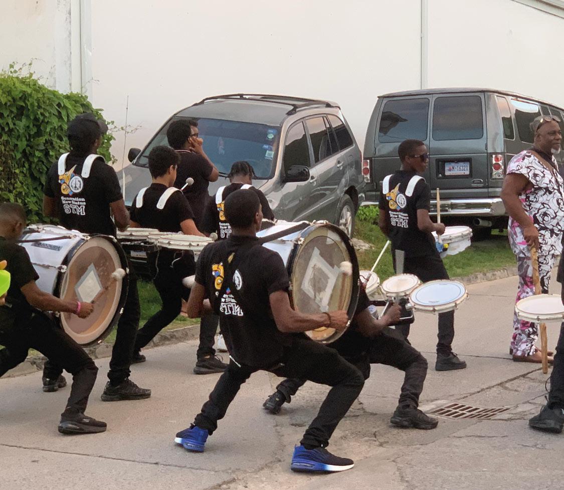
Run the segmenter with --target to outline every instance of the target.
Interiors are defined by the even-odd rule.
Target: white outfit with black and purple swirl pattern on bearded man
[[[525,213],[539,231],[539,276],[543,293],[548,293],[550,272],[554,260],[562,251],[562,229],[564,226],[564,182],[556,169],[558,164],[552,158],[554,171],[545,167],[538,158],[526,150],[515,155],[507,167],[508,174],[525,175],[532,189],[519,195]],[[521,225],[509,217],[509,244],[517,258],[519,288],[517,299],[535,294],[532,279],[531,250],[523,237]],[[521,321],[514,315],[511,349],[513,355],[535,354],[535,342],[539,336],[538,326]]]

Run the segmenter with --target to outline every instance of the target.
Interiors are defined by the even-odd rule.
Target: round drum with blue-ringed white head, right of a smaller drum
[[[425,282],[409,294],[414,310],[431,313],[456,310],[466,298],[468,293],[462,282],[442,279]]]

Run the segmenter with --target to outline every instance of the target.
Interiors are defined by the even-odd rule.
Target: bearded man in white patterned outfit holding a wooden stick
[[[537,250],[543,293],[548,293],[550,273],[562,251],[564,182],[553,157],[562,141],[559,122],[556,116],[539,116],[531,122],[534,144],[511,159],[501,189],[509,214],[509,244],[517,259],[517,301],[535,294],[531,248],[534,246]],[[513,360],[540,363],[542,352],[535,345],[538,336],[536,323],[521,321],[514,314],[509,347]],[[552,357],[549,361],[552,362]]]

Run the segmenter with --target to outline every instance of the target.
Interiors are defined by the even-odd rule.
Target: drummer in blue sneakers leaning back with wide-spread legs
[[[250,189],[231,193],[225,213],[232,234],[206,246],[196,265],[196,282],[188,300],[191,317],[213,308],[221,317],[221,330],[231,362],[219,378],[209,400],[193,424],[178,432],[175,442],[189,451],[202,452],[208,435],[217,429],[241,385],[258,370],[277,376],[309,379],[332,386],[318,416],[294,448],[294,471],[327,472],[351,468],[348,458],[333,456],[325,447],[359,395],[362,374],[337,351],[296,333],[329,326],[342,330],[345,311],[318,315],[292,310],[289,278],[276,252],[257,245],[261,227],[258,196]],[[209,300],[205,300],[209,298]]]

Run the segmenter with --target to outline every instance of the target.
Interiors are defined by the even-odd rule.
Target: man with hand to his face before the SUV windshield
[[[166,138],[180,156],[174,187],[181,189],[188,177],[194,179],[194,183],[183,192],[192,208],[196,226],[200,229],[209,201],[208,186],[218,179],[219,171],[202,148],[204,140],[199,138],[197,121],[179,119],[171,122]]]

